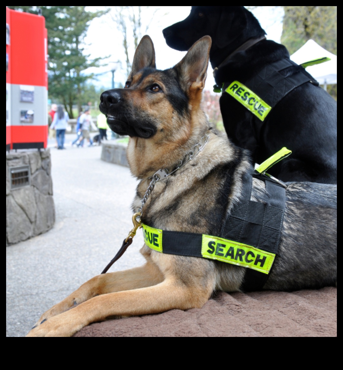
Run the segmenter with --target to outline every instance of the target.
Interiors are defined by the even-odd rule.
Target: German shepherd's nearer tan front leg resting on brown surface
[[[191,287],[169,277],[158,285],[93,297],[75,308],[43,322],[29,337],[71,336],[84,326],[113,315],[142,315],[170,309],[200,308],[212,293],[207,288]]]

